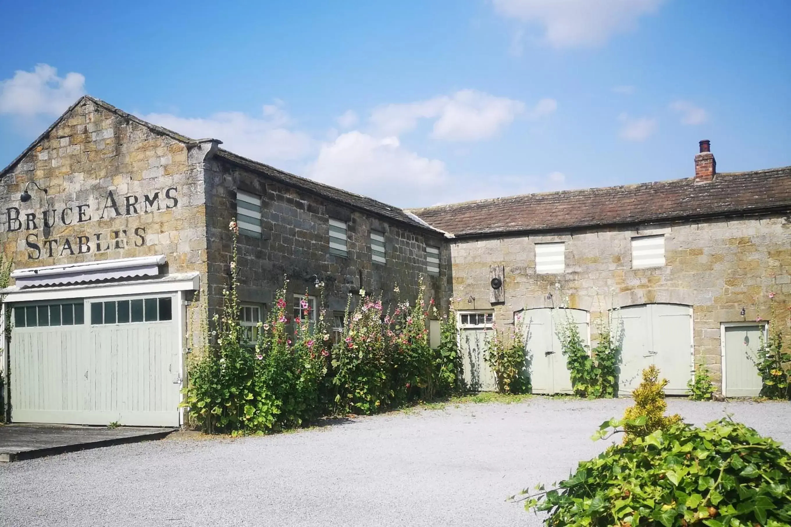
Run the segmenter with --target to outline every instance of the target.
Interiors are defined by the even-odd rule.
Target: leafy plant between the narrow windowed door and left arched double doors
[[[528,386],[524,378],[524,335],[517,324],[507,335],[497,329],[486,343],[483,360],[489,364],[497,378],[500,393],[521,393]]]

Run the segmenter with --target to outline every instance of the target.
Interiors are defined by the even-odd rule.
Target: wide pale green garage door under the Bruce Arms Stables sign
[[[11,420],[178,426],[175,295],[13,306]]]

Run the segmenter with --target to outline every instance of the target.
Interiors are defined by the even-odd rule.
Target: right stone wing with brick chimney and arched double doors
[[[650,363],[668,393],[685,393],[697,362],[726,396],[757,396],[747,355],[767,321],[785,328],[791,302],[791,167],[718,173],[701,141],[694,168],[687,179],[412,211],[452,234],[467,382],[493,388],[482,343],[493,324],[516,323],[533,391],[570,392],[556,332],[572,322],[586,343],[602,325],[618,335],[621,393]]]

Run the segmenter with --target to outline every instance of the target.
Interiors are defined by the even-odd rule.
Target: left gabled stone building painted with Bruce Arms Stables
[[[85,96],[0,171],[6,418],[178,425],[187,356],[230,285],[238,220],[243,324],[284,275],[295,316],[324,282],[447,298],[444,233],[380,201],[279,171]],[[7,342],[7,340],[6,340]]]

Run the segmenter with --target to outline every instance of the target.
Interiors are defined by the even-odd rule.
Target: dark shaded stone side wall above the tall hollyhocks
[[[426,275],[426,243],[441,247],[441,235],[410,228],[392,220],[361,213],[303,190],[267,179],[246,168],[214,158],[207,172],[207,216],[209,237],[209,284],[212,307],[221,305],[221,293],[229,285],[231,235],[229,222],[237,215],[236,190],[263,197],[263,236],[239,235],[240,299],[248,303],[271,303],[290,280],[289,294],[316,295],[315,281],[324,281],[327,306],[343,311],[350,292],[360,287],[375,295],[382,292],[385,303],[399,285],[403,299],[414,300],[418,280]],[[329,253],[328,217],[348,221],[348,258]],[[385,232],[387,263],[372,262],[371,229]],[[426,276],[427,295],[445,298],[448,288],[449,255],[441,276]]]

